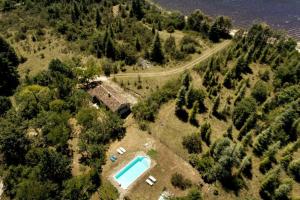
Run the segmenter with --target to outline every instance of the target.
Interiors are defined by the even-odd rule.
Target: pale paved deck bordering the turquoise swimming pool
[[[156,162],[155,160],[151,159],[145,152],[143,151],[138,151],[135,153],[128,153],[130,155],[128,155],[131,159],[128,161],[128,159],[122,160],[121,162],[119,160],[121,160],[119,156],[119,159],[116,161],[118,163],[118,165],[112,170],[111,175],[108,177],[108,180],[110,180],[110,182],[118,189],[119,193],[120,193],[120,199],[123,199],[123,197],[135,186],[135,184],[137,182],[139,182],[139,180],[145,179],[146,180],[146,174],[148,174],[148,172],[151,171],[151,169],[153,167],[155,167]],[[145,172],[143,172],[132,184],[129,185],[129,187],[127,189],[123,189],[120,187],[119,183],[115,180],[114,176],[116,175],[116,173],[118,173],[122,168],[124,168],[128,163],[130,163],[135,157],[137,156],[147,156],[149,157],[149,159],[151,160],[151,165],[150,168],[147,169]],[[150,187],[150,186],[149,186]]]

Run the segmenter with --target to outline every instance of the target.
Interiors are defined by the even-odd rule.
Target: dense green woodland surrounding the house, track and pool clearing
[[[9,199],[89,199],[101,186],[105,152],[125,130],[119,116],[90,106],[82,89],[90,78],[115,73],[140,57],[164,64],[201,53],[193,34],[212,43],[230,38],[226,17],[212,19],[195,11],[185,20],[144,0],[4,0],[1,9],[8,17],[0,21],[0,176]],[[47,70],[21,79],[17,68],[26,58],[6,38],[13,32],[15,42],[43,40],[45,30],[77,52],[106,58],[107,64],[82,70],[76,59],[53,58]],[[171,35],[161,40],[161,30],[186,35],[176,46]],[[133,116],[147,130],[160,107],[174,100],[174,115],[199,129],[183,137],[182,145],[204,182],[219,182],[238,193],[251,184],[255,171],[262,199],[291,199],[292,187],[300,181],[300,54],[295,46],[265,24],[240,31],[230,48],[194,67],[202,85],[193,85],[186,72],[140,101]],[[197,118],[205,113],[226,121],[227,131],[212,133],[209,118]],[[78,131],[80,163],[87,173],[75,177],[69,141]],[[216,140],[214,134],[222,137]],[[259,169],[253,169],[254,158]],[[180,175],[171,181],[191,188],[186,197],[175,199],[202,198],[201,189]]]

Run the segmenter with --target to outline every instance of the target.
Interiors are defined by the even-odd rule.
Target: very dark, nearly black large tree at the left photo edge
[[[19,59],[14,49],[0,37],[0,96],[9,96],[19,84]]]

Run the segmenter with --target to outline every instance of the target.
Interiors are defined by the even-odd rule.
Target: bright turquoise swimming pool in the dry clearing
[[[136,156],[125,167],[114,175],[114,179],[121,188],[127,189],[138,177],[151,166],[151,159],[147,156]]]

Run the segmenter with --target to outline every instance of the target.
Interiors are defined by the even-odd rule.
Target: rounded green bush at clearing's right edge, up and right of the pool
[[[200,135],[197,133],[184,136],[182,140],[182,145],[188,150],[189,153],[202,152],[201,138]]]

